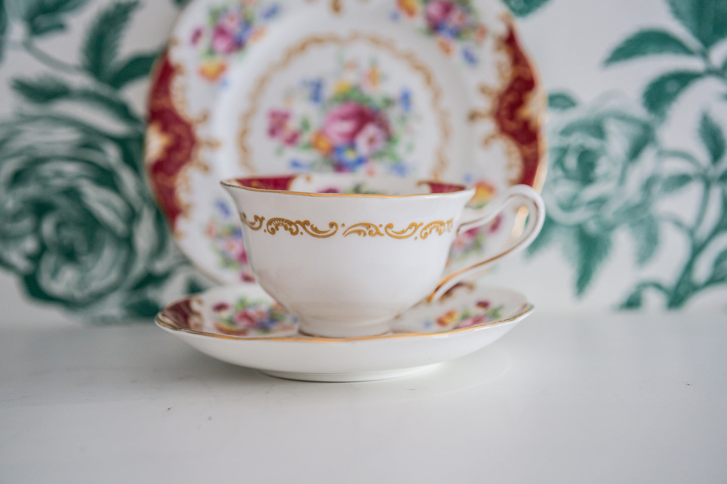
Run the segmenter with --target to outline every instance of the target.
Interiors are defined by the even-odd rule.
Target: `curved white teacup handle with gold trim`
[[[467,211],[465,211],[465,220],[460,222],[459,227],[457,227],[457,234],[459,235],[466,230],[488,224],[497,217],[503,209],[513,202],[518,203],[521,207],[524,206],[528,209],[529,214],[528,222],[517,240],[494,256],[475,262],[475,264],[470,265],[469,267],[465,267],[464,269],[458,270],[456,273],[447,275],[438,284],[432,294],[427,297],[428,302],[439,299],[441,295],[446,293],[446,291],[449,291],[452,286],[469,277],[473,273],[479,272],[485,267],[492,265],[501,257],[517,254],[535,240],[543,226],[543,222],[545,222],[545,202],[540,194],[528,185],[514,185],[497,195],[481,209],[467,209]]]

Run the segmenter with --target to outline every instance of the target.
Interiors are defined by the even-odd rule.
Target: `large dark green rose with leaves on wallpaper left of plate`
[[[203,286],[142,179],[144,121],[123,88],[148,76],[159,49],[119,56],[140,4],[102,6],[77,65],[35,39],[63,31],[87,1],[16,5],[26,36],[12,47],[43,68],[12,78],[22,108],[0,120],[0,266],[29,296],[89,319],[149,318],[174,281]]]

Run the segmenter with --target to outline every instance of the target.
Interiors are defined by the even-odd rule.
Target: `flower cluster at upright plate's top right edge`
[[[478,47],[486,28],[471,0],[396,0],[392,18],[401,17],[421,23],[422,31],[433,36],[447,55],[459,50],[467,64],[478,64]]]

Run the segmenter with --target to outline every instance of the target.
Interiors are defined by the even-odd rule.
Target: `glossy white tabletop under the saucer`
[[[293,382],[154,326],[0,332],[1,483],[724,483],[727,317],[534,313],[426,374]]]

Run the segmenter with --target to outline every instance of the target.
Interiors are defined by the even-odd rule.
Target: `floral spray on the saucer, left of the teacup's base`
[[[212,305],[214,327],[233,336],[270,336],[297,328],[297,319],[280,304],[265,299],[241,297],[233,304],[222,301]]]

